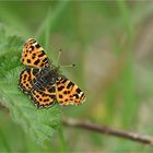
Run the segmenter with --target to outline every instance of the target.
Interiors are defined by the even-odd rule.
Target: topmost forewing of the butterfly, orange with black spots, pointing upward
[[[23,47],[22,63],[34,68],[50,66],[50,61],[44,48],[33,38],[30,38]]]

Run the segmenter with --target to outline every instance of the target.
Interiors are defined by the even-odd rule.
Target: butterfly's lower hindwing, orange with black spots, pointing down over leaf
[[[33,89],[30,93],[30,97],[38,108],[52,106],[56,101],[55,84],[47,85],[43,90]]]

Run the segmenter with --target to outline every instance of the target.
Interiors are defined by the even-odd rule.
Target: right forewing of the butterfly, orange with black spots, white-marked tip
[[[76,84],[61,76],[56,83],[57,101],[61,105],[79,105],[85,101],[84,93]]]

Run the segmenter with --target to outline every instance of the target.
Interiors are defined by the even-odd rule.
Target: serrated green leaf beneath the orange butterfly
[[[54,105],[49,109],[37,109],[17,87],[19,75],[24,68],[20,60],[23,43],[19,36],[0,38],[0,102],[9,108],[12,119],[43,144],[59,128],[61,108]]]

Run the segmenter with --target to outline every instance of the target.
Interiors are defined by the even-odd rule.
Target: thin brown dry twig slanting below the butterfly
[[[72,119],[72,118],[64,118],[62,119],[62,123],[69,127],[78,127],[85,130],[91,130],[94,132],[99,132],[104,134],[115,136],[123,139],[129,139],[136,142],[145,143],[153,145],[153,137],[142,136],[136,132],[125,131],[120,129],[114,129],[106,126],[101,126],[94,122]]]

